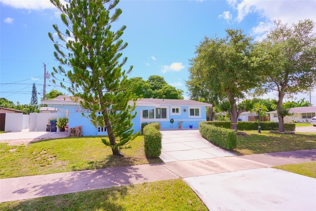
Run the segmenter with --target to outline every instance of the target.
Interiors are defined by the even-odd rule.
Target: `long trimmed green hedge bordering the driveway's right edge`
[[[237,147],[237,134],[234,130],[200,122],[199,133],[209,142],[227,150],[233,150]]]

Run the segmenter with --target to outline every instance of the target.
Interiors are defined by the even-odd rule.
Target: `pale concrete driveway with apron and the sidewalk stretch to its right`
[[[161,133],[163,165],[183,178],[209,210],[316,211],[315,178],[270,168],[316,160],[316,150],[234,156],[198,130]]]

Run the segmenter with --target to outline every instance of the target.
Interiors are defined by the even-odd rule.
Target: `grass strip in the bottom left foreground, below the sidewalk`
[[[112,187],[0,204],[0,210],[207,211],[181,179]]]

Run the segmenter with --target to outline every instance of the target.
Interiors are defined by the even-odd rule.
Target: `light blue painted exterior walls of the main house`
[[[50,107],[58,108],[57,119],[59,117],[68,117],[68,127],[82,126],[83,136],[98,136],[107,135],[105,129],[95,128],[90,120],[82,116],[80,106],[77,104],[67,105],[65,103],[61,104],[51,104]],[[166,118],[157,118],[156,108],[166,109]],[[144,118],[144,110],[154,110],[154,118]],[[161,111],[161,110],[160,110]],[[131,129],[134,133],[141,131],[141,125],[143,122],[159,122],[161,124],[161,129],[178,129],[178,122],[183,121],[182,128],[198,128],[198,123],[201,121],[206,121],[206,106],[183,106],[183,105],[145,105],[136,106],[133,112],[137,112],[137,115],[132,119],[133,126]],[[162,111],[161,111],[162,112]],[[89,113],[85,113],[88,115]],[[193,115],[192,115],[193,114]],[[171,123],[170,119],[174,119]]]

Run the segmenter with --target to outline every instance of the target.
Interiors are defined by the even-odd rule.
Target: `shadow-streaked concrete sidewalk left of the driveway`
[[[1,181],[1,202],[138,184],[148,182],[149,176],[147,168],[126,166],[25,177],[14,187],[10,184],[15,178],[8,178]]]

